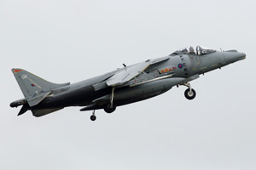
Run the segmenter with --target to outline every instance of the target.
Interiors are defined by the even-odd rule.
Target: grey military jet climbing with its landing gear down
[[[32,111],[33,116],[44,116],[67,106],[84,106],[80,111],[92,111],[91,121],[96,120],[95,110],[107,113],[117,106],[128,105],[166,93],[173,86],[183,85],[187,99],[195,98],[189,82],[201,74],[245,59],[246,54],[236,50],[217,51],[201,46],[183,48],[174,53],[141,63],[126,66],[82,82],[56,84],[23,69],[12,69],[24,99],[10,104],[22,105],[18,116]]]

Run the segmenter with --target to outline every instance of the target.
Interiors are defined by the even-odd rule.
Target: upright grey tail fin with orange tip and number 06
[[[69,82],[64,84],[48,82],[22,69],[12,69],[12,71],[26,99],[70,84]]]

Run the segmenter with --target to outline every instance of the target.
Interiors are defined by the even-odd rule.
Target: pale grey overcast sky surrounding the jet
[[[0,169],[256,169],[256,1],[0,0]],[[189,45],[247,59],[186,88],[117,108],[40,118],[9,103],[10,71],[79,82]]]

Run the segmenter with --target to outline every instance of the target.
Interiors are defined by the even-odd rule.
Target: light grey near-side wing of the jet
[[[106,83],[110,87],[121,86],[125,82],[129,82],[132,78],[137,77],[139,74],[145,71],[149,65],[154,65],[167,59],[169,59],[168,56],[160,59],[147,60],[137,65],[127,66],[125,69],[118,71],[115,75],[113,75],[113,77],[110,77]]]

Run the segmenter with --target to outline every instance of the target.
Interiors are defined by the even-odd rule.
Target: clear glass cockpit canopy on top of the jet
[[[210,48],[204,48],[202,46],[196,46],[196,47],[187,47],[187,48],[182,48],[180,50],[177,50],[179,52],[182,52],[183,54],[195,54],[195,55],[206,55],[206,54],[211,54],[216,52],[214,49]]]

